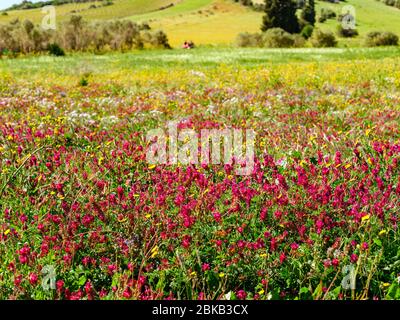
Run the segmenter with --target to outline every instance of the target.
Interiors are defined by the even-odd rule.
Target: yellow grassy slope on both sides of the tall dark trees
[[[365,35],[373,30],[393,31],[400,35],[400,10],[376,0],[348,0],[340,4],[317,1],[316,9],[319,13],[321,8],[330,8],[339,15],[344,5],[355,7],[360,35],[354,39],[339,39],[341,46],[359,46]],[[228,44],[240,32],[258,32],[262,15],[230,0],[190,0],[161,12],[134,15],[131,19],[147,20],[154,27],[164,29],[173,45],[181,43],[182,39],[201,44]],[[337,20],[328,20],[317,23],[317,27],[335,32],[338,24]]]

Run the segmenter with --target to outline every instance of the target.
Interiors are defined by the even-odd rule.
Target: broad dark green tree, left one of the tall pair
[[[289,33],[299,32],[296,10],[297,4],[293,0],[265,0],[265,16],[261,30],[281,28]]]

